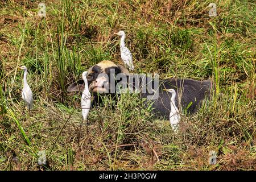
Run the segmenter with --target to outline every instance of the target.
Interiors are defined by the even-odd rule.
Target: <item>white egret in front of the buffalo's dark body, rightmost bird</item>
[[[174,89],[164,89],[164,90],[172,94],[170,123],[171,123],[172,129],[174,129],[174,131],[176,132],[177,126],[179,125],[179,121],[180,121],[179,109],[177,109],[177,106],[175,105],[176,92]]]

